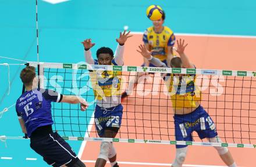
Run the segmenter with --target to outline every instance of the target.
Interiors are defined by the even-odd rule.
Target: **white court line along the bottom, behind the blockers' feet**
[[[96,161],[92,160],[81,160],[82,162],[95,163]],[[109,162],[107,162],[109,164]],[[172,166],[172,164],[162,164],[162,163],[148,163],[148,162],[122,162],[118,161],[118,164],[128,164],[128,165],[152,165],[152,166]],[[184,164],[183,166],[187,167],[226,167],[226,166],[216,166],[216,165],[189,165]],[[241,166],[240,166],[241,167]]]

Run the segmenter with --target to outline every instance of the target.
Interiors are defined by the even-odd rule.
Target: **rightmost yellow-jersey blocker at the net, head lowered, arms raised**
[[[194,64],[189,61],[185,55],[184,40],[177,41],[177,53],[180,57],[174,57],[170,61],[172,68],[195,68]],[[138,52],[154,64],[156,67],[167,67],[165,63],[161,62],[152,56],[152,51],[149,51],[146,46],[140,45]],[[187,74],[169,74],[165,76],[165,84],[169,89],[170,99],[172,100],[172,107],[175,113],[175,137],[177,141],[193,141],[192,133],[198,133],[200,139],[207,138],[208,141],[214,143],[222,143],[216,132],[215,124],[211,117],[200,106],[201,92],[195,84],[196,75]],[[236,167],[232,155],[227,147],[215,147],[221,157],[222,161],[229,167]],[[176,158],[173,161],[173,167],[182,167],[186,158],[187,146],[176,145]]]

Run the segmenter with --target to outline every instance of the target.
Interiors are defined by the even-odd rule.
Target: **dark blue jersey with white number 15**
[[[34,89],[23,93],[16,102],[16,112],[23,119],[27,136],[40,126],[52,125],[51,102],[59,102],[62,95],[48,89]]]

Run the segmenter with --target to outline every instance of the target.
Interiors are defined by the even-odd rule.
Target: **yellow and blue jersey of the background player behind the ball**
[[[168,46],[175,44],[175,35],[170,28],[164,26],[161,33],[154,31],[154,27],[149,27],[143,34],[143,42],[150,45],[150,50],[155,50],[152,56],[161,61],[167,59]]]

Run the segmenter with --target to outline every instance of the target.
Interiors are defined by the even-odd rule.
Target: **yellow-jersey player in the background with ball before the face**
[[[173,58],[172,47],[175,44],[175,35],[169,27],[163,26],[165,21],[165,13],[162,18],[152,21],[153,26],[147,28],[143,34],[143,42],[148,50],[152,51],[152,56],[161,60],[166,65]],[[144,59],[143,67],[155,67],[147,59]],[[133,88],[136,87],[138,78],[145,75],[145,72],[138,72],[137,77],[130,77],[126,92],[123,92],[122,97],[131,95]]]

